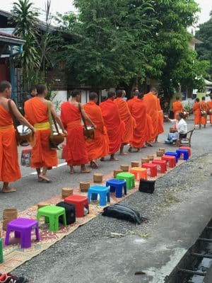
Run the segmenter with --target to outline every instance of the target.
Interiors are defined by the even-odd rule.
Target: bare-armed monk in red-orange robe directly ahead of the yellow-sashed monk
[[[73,90],[71,99],[61,104],[61,121],[68,132],[66,139],[65,156],[66,162],[70,166],[70,173],[73,174],[73,166],[81,166],[81,173],[90,173],[85,164],[88,163],[88,152],[86,147],[86,139],[83,135],[83,125],[81,125],[81,117],[94,128],[96,127],[92,120],[88,117],[81,103],[81,92]]]

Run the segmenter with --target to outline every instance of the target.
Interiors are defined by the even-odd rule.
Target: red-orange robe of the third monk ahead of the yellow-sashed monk
[[[111,99],[100,103],[102,117],[109,137],[109,154],[115,154],[122,145],[125,125],[119,117],[117,105]]]

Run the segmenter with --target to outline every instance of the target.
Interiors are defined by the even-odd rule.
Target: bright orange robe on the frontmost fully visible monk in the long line
[[[143,97],[143,101],[146,104],[146,112],[152,118],[153,134],[151,136],[150,141],[153,141],[155,137],[158,136],[159,113],[158,113],[157,97],[153,93],[146,93],[146,95]]]

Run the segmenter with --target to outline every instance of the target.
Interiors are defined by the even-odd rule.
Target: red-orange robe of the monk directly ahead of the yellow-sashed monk
[[[61,104],[61,121],[68,133],[64,149],[66,162],[69,166],[79,166],[88,163],[86,140],[81,125],[81,113],[69,102]]]

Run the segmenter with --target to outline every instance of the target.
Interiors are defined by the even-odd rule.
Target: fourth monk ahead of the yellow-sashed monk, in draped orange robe
[[[131,116],[129,107],[123,98],[124,98],[124,92],[121,89],[117,90],[117,98],[114,100],[114,103],[116,103],[117,105],[119,111],[119,117],[125,124],[125,132],[124,132],[124,136],[122,137],[122,146],[120,147],[120,155],[126,155],[126,153],[124,153],[124,146],[126,144],[129,144],[129,140],[131,139],[134,128],[136,127],[136,121],[134,117]]]

